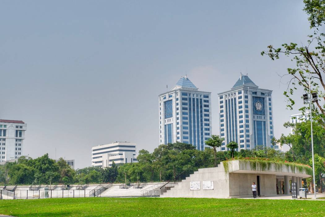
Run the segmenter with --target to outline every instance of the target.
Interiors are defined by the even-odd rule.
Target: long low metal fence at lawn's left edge
[[[48,198],[101,197],[102,191],[94,190],[48,190]],[[39,199],[45,198],[45,190],[0,190],[0,199]]]

